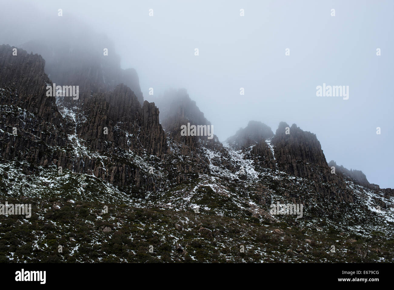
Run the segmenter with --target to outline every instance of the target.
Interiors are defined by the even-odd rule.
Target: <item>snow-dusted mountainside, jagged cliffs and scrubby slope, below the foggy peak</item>
[[[13,48],[0,46],[0,204],[32,214],[2,215],[1,262],[394,261],[393,190],[332,173],[315,134],[251,121],[223,144],[183,136],[212,125],[186,90],[141,103],[117,72],[106,87],[59,65],[81,97],[47,96],[45,60]]]

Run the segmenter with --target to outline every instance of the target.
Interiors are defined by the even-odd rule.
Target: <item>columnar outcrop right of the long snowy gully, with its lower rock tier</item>
[[[135,164],[135,155],[157,156],[167,151],[164,130],[159,123],[159,111],[154,103],[139,104],[131,89],[123,84],[113,91],[93,94],[78,108],[75,134],[71,141],[97,152],[75,156],[62,152],[54,160],[57,166],[93,174],[114,185],[135,185],[156,190],[156,181]],[[75,139],[74,139],[75,138]]]

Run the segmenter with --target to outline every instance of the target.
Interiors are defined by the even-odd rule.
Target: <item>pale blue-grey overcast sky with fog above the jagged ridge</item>
[[[296,123],[317,135],[327,161],[394,188],[394,1],[81,2],[0,0],[1,44],[46,35],[61,8],[112,39],[145,99],[149,87],[155,96],[186,88],[220,141],[249,120],[273,132]],[[349,86],[349,99],[317,97],[323,83]]]

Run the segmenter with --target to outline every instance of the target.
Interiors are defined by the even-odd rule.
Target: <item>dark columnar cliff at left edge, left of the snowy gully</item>
[[[1,156],[47,165],[56,154],[50,147],[67,144],[62,117],[46,97],[45,61],[21,49],[14,56],[14,48],[0,46]]]

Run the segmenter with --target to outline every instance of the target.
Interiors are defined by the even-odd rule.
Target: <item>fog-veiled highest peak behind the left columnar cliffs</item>
[[[43,56],[45,72],[53,82],[61,86],[79,86],[81,100],[92,93],[111,91],[125,84],[142,106],[144,99],[138,74],[135,69],[121,69],[120,57],[115,54],[111,41],[93,32],[87,38],[84,36],[82,43],[77,35],[69,37],[67,41],[30,41],[22,48]],[[108,55],[104,55],[103,48],[108,48]],[[71,100],[67,103],[64,106],[70,108]]]

